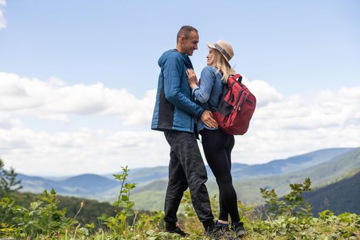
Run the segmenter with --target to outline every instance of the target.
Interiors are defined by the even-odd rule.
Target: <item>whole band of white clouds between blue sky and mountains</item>
[[[258,107],[248,133],[236,136],[234,162],[265,163],[327,147],[359,147],[360,87],[283,97],[267,82],[244,79],[244,84],[256,95]],[[54,77],[42,81],[0,73],[0,157],[16,171],[42,175],[167,165],[163,134],[148,130],[154,101],[154,90],[138,98],[101,83],[67,86]],[[89,121],[119,117],[129,130],[84,128],[73,123],[74,114]],[[29,116],[71,122],[76,128],[33,130]],[[139,126],[147,130],[134,131]]]

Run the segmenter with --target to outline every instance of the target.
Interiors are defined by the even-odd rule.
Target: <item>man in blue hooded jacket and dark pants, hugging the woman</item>
[[[176,222],[176,213],[184,191],[189,187],[193,207],[204,225],[205,235],[221,236],[215,227],[205,182],[206,169],[195,138],[195,121],[201,118],[211,128],[217,127],[211,112],[191,101],[191,88],[187,82],[187,69],[193,69],[189,56],[197,50],[197,29],[183,26],[178,32],[176,49],[165,51],[158,60],[160,75],[152,118],[152,130],[160,130],[169,143],[169,182],[165,195],[165,231],[183,232]]]

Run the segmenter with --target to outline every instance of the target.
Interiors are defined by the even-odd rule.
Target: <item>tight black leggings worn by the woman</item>
[[[240,221],[237,211],[237,193],[232,186],[231,177],[231,150],[234,147],[233,135],[224,131],[207,130],[200,132],[202,135],[202,148],[206,161],[214,173],[217,185],[219,186],[220,214],[219,220],[228,221],[230,214],[231,221]]]

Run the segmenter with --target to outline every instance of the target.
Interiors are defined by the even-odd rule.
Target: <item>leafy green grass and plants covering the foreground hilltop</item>
[[[357,177],[356,174],[354,177]],[[97,217],[99,226],[81,221],[80,213],[87,205],[80,204],[77,213],[69,217],[66,208],[60,208],[55,191],[44,191],[34,199],[20,206],[12,198],[24,195],[1,187],[0,237],[8,239],[181,239],[178,235],[164,232],[162,211],[144,212],[134,210],[130,197],[136,184],[127,181],[128,169],[115,176],[121,185],[111,213],[105,211]],[[11,178],[1,175],[1,180],[11,183]],[[16,182],[7,186],[14,186]],[[311,193],[311,181],[290,184],[289,193],[278,197],[274,189],[261,189],[265,205],[245,205],[238,202],[241,220],[245,223],[247,235],[243,239],[359,239],[360,215],[342,213],[334,215],[324,210],[311,214],[311,206],[305,202],[302,193]],[[29,195],[27,195],[29,197]],[[147,199],[152,196],[147,195]],[[59,200],[60,199],[60,200]],[[217,197],[211,198],[213,213],[217,215]],[[179,224],[189,232],[182,239],[207,239],[202,235],[202,224],[197,220],[191,205],[189,191],[182,200],[183,213]],[[104,213],[104,214],[103,214]]]

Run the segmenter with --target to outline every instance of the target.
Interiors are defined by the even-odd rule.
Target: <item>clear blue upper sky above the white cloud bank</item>
[[[189,24],[200,32],[195,69],[206,62],[206,40],[223,38],[238,71],[284,94],[337,88],[339,80],[356,86],[359,9],[359,1],[7,1],[0,66],[141,96],[156,84],[160,53]]]

